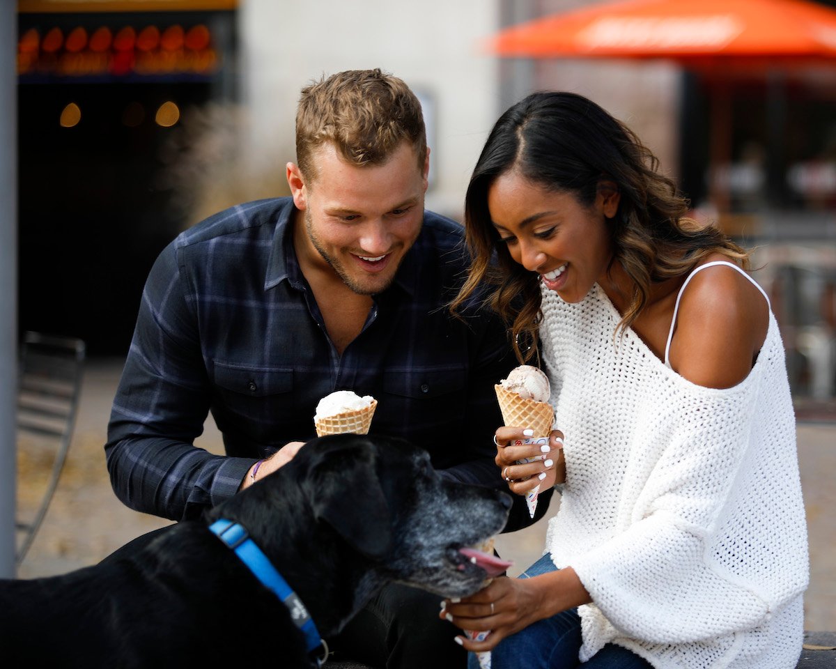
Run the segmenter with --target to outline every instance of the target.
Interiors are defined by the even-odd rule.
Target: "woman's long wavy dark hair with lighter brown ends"
[[[514,262],[487,208],[488,189],[512,168],[550,192],[572,193],[586,207],[593,205],[599,182],[618,188],[618,212],[608,219],[613,261],[634,282],[621,332],[647,304],[652,283],[689,272],[706,255],[724,253],[748,268],[746,251],[716,227],[686,217],[686,198],[658,173],[658,164],[632,130],[581,95],[533,93],[513,105],[494,125],[467,187],[471,266],[451,303],[453,313],[487,284],[487,303],[511,330],[517,359],[538,353],[539,275]]]

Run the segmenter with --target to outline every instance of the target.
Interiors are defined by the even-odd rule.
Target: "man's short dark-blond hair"
[[[403,140],[426,161],[421,103],[397,77],[380,69],[354,69],[323,77],[304,89],[296,112],[296,161],[315,180],[312,154],[331,142],[353,165],[380,165]]]

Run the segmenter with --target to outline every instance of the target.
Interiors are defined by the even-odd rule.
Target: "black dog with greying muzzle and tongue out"
[[[319,634],[334,635],[387,582],[478,590],[492,560],[466,547],[501,530],[509,507],[503,493],[443,480],[402,440],[316,439],[203,521],[67,575],[0,581],[0,664],[315,665]],[[208,527],[219,519],[219,533],[246,532],[220,540]],[[286,585],[270,582],[269,564],[254,568],[269,587],[259,582],[225,545],[239,540]]]

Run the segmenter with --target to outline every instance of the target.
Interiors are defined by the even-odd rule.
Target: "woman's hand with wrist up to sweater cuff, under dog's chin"
[[[490,630],[484,641],[456,636],[456,643],[467,651],[482,652],[537,620],[590,601],[574,569],[567,567],[530,579],[501,576],[475,595],[455,602],[444,600],[439,617],[462,630]]]

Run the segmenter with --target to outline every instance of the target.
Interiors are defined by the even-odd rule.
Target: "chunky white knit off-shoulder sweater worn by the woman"
[[[543,290],[543,360],[566,483],[546,549],[572,566],[585,661],[604,644],[677,669],[790,669],[803,638],[807,530],[777,323],[737,386],[659,360],[598,285]]]

